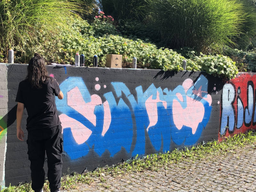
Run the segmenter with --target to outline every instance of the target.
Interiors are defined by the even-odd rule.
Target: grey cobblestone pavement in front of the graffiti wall
[[[128,173],[122,177],[94,178],[91,184],[78,184],[63,192],[254,192],[256,191],[255,145],[239,148],[224,156],[206,157],[195,162],[170,164],[157,172]]]

